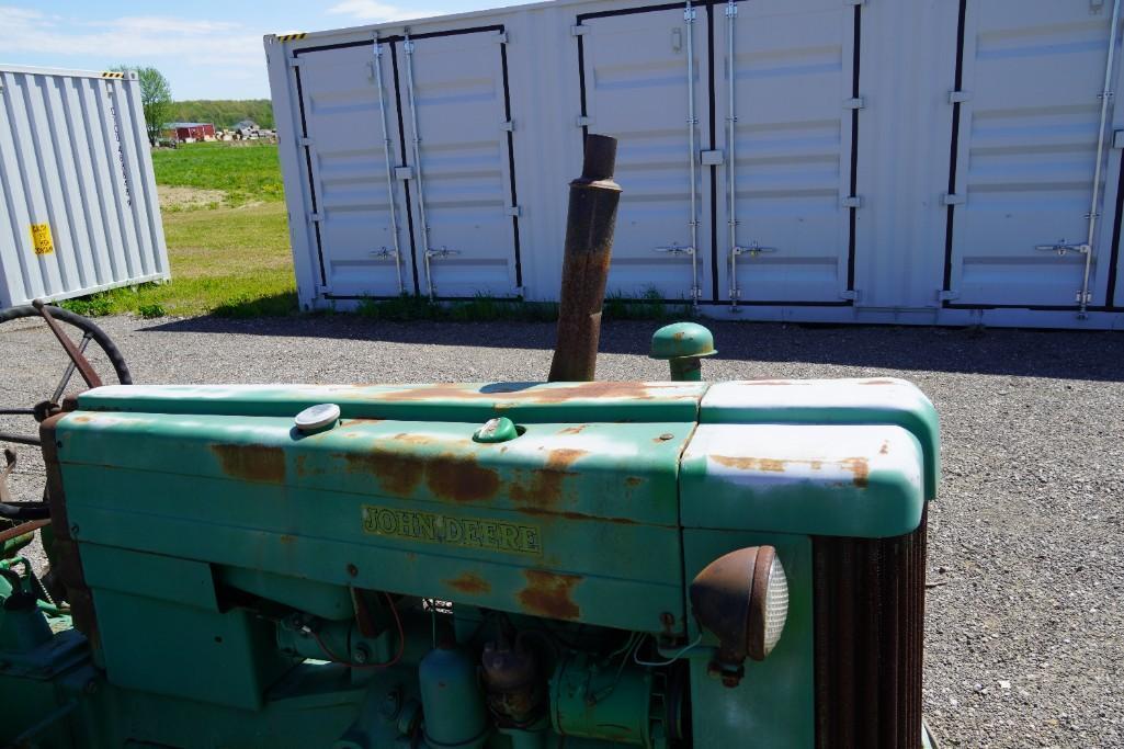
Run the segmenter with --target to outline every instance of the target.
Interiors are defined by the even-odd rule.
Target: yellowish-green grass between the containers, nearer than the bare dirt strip
[[[164,216],[170,283],[112,289],[63,303],[81,315],[288,315],[297,309],[284,204]]]

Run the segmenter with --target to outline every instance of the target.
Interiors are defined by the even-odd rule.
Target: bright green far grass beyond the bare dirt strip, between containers
[[[278,147],[272,143],[187,143],[152,153],[156,182],[200,190],[223,190],[225,204],[284,198]]]

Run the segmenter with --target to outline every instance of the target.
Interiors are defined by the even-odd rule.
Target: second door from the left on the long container
[[[396,45],[423,294],[520,292],[513,124],[499,29]]]

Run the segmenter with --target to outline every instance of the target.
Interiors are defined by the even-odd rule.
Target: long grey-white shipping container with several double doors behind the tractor
[[[265,37],[306,308],[608,291],[761,321],[1124,328],[1120,0],[560,0]]]

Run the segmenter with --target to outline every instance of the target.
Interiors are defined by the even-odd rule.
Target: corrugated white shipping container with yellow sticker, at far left
[[[167,278],[136,73],[0,65],[0,307]]]

